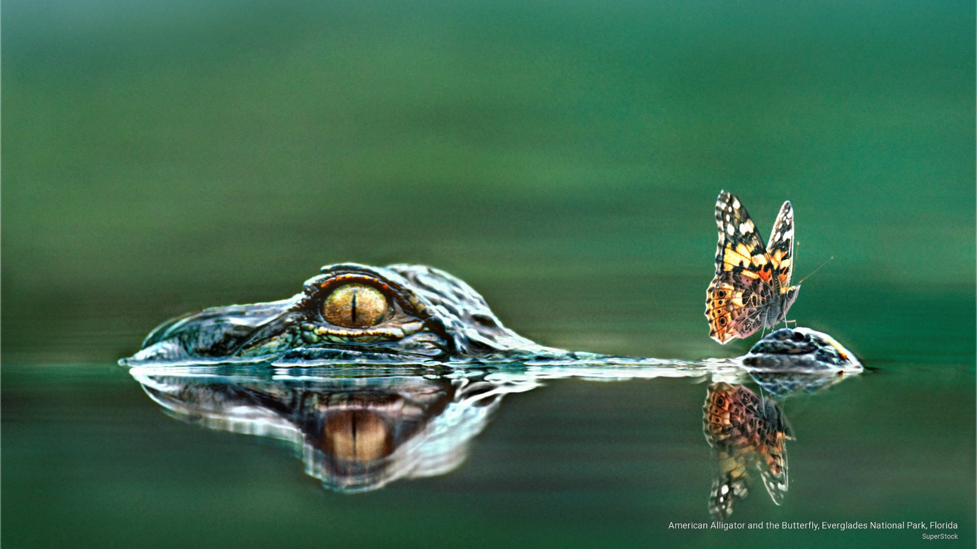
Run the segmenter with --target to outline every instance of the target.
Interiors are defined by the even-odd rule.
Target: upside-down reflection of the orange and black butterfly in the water
[[[767,493],[780,505],[787,491],[786,440],[793,439],[780,406],[742,385],[714,383],[702,406],[702,424],[718,461],[709,514],[729,518],[733,502],[746,497],[751,467],[759,470]]]

